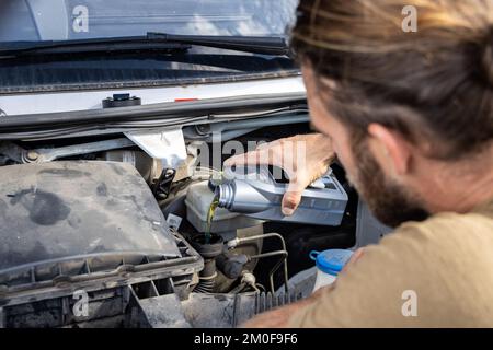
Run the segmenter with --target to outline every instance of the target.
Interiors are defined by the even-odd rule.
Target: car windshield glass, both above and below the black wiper
[[[105,39],[148,32],[286,36],[297,0],[1,0],[0,47],[18,42]],[[231,82],[299,74],[287,56],[193,45],[0,58],[0,94]]]

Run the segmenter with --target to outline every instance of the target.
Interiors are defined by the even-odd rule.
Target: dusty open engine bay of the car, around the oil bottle
[[[302,132],[308,124],[230,140],[245,145]],[[218,208],[206,230],[208,182],[218,170],[197,165],[197,154],[213,142],[185,145],[185,162],[173,168],[126,138],[3,142],[2,326],[234,327],[308,296],[311,250],[356,245],[358,198],[336,164],[333,176],[348,198],[340,224]],[[74,315],[79,290],[90,316]]]

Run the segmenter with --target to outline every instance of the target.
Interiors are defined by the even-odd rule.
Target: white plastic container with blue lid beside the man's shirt
[[[310,252],[310,258],[314,260],[317,265],[317,279],[313,292],[321,287],[335,282],[339,272],[341,272],[352,255],[353,252],[347,249]]]

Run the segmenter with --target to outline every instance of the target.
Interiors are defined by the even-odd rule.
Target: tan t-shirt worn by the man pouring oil
[[[289,326],[493,327],[493,201],[401,225]]]

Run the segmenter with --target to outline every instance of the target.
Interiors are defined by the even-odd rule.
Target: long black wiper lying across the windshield
[[[163,50],[176,52],[186,51],[195,45],[260,55],[284,56],[288,54],[288,47],[284,37],[202,36],[149,32],[146,36],[1,43],[0,58],[36,54],[60,55],[128,50]]]

